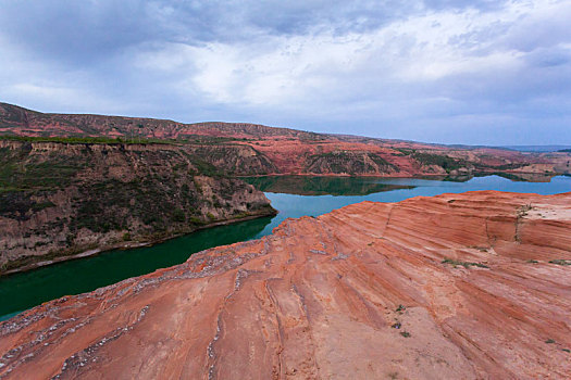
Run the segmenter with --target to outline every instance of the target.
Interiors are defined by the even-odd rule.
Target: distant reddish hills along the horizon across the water
[[[235,175],[302,174],[410,177],[473,173],[570,173],[571,153],[452,148],[313,134],[246,123],[183,124],[140,117],[44,114],[0,103],[0,135],[107,137],[193,142]],[[225,143],[221,143],[225,142]],[[202,148],[198,149],[197,145]],[[241,148],[240,148],[241,147]],[[255,160],[248,160],[248,156]],[[240,157],[238,162],[235,157]]]

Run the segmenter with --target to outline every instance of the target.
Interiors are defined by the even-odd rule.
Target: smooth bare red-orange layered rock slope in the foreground
[[[35,307],[0,376],[567,379],[571,193],[364,202]]]

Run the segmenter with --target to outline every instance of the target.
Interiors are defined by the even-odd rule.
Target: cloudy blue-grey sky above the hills
[[[570,20],[569,0],[0,0],[0,101],[571,144]]]

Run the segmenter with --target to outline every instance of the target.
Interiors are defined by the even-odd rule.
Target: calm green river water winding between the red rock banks
[[[571,191],[571,177],[546,182],[511,181],[497,176],[467,181],[413,178],[261,177],[249,182],[263,190],[280,213],[275,217],[214,227],[163,243],[128,251],[109,251],[0,278],[0,320],[66,294],[78,294],[129,277],[185,262],[212,246],[258,239],[288,217],[318,216],[362,201],[398,202],[418,195],[473,190],[555,194]]]

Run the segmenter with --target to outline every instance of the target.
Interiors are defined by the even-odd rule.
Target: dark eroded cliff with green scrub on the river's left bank
[[[274,213],[262,192],[215,174],[177,145],[0,140],[0,274]]]

